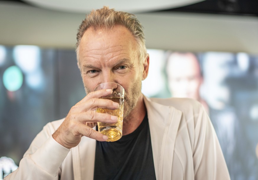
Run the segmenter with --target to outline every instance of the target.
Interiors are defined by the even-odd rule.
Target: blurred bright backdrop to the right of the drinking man
[[[217,133],[231,179],[258,179],[258,55],[154,49],[149,54],[149,72],[163,78],[152,74],[146,79],[152,83],[143,82],[143,92],[147,88],[153,90],[148,96],[200,101]]]

